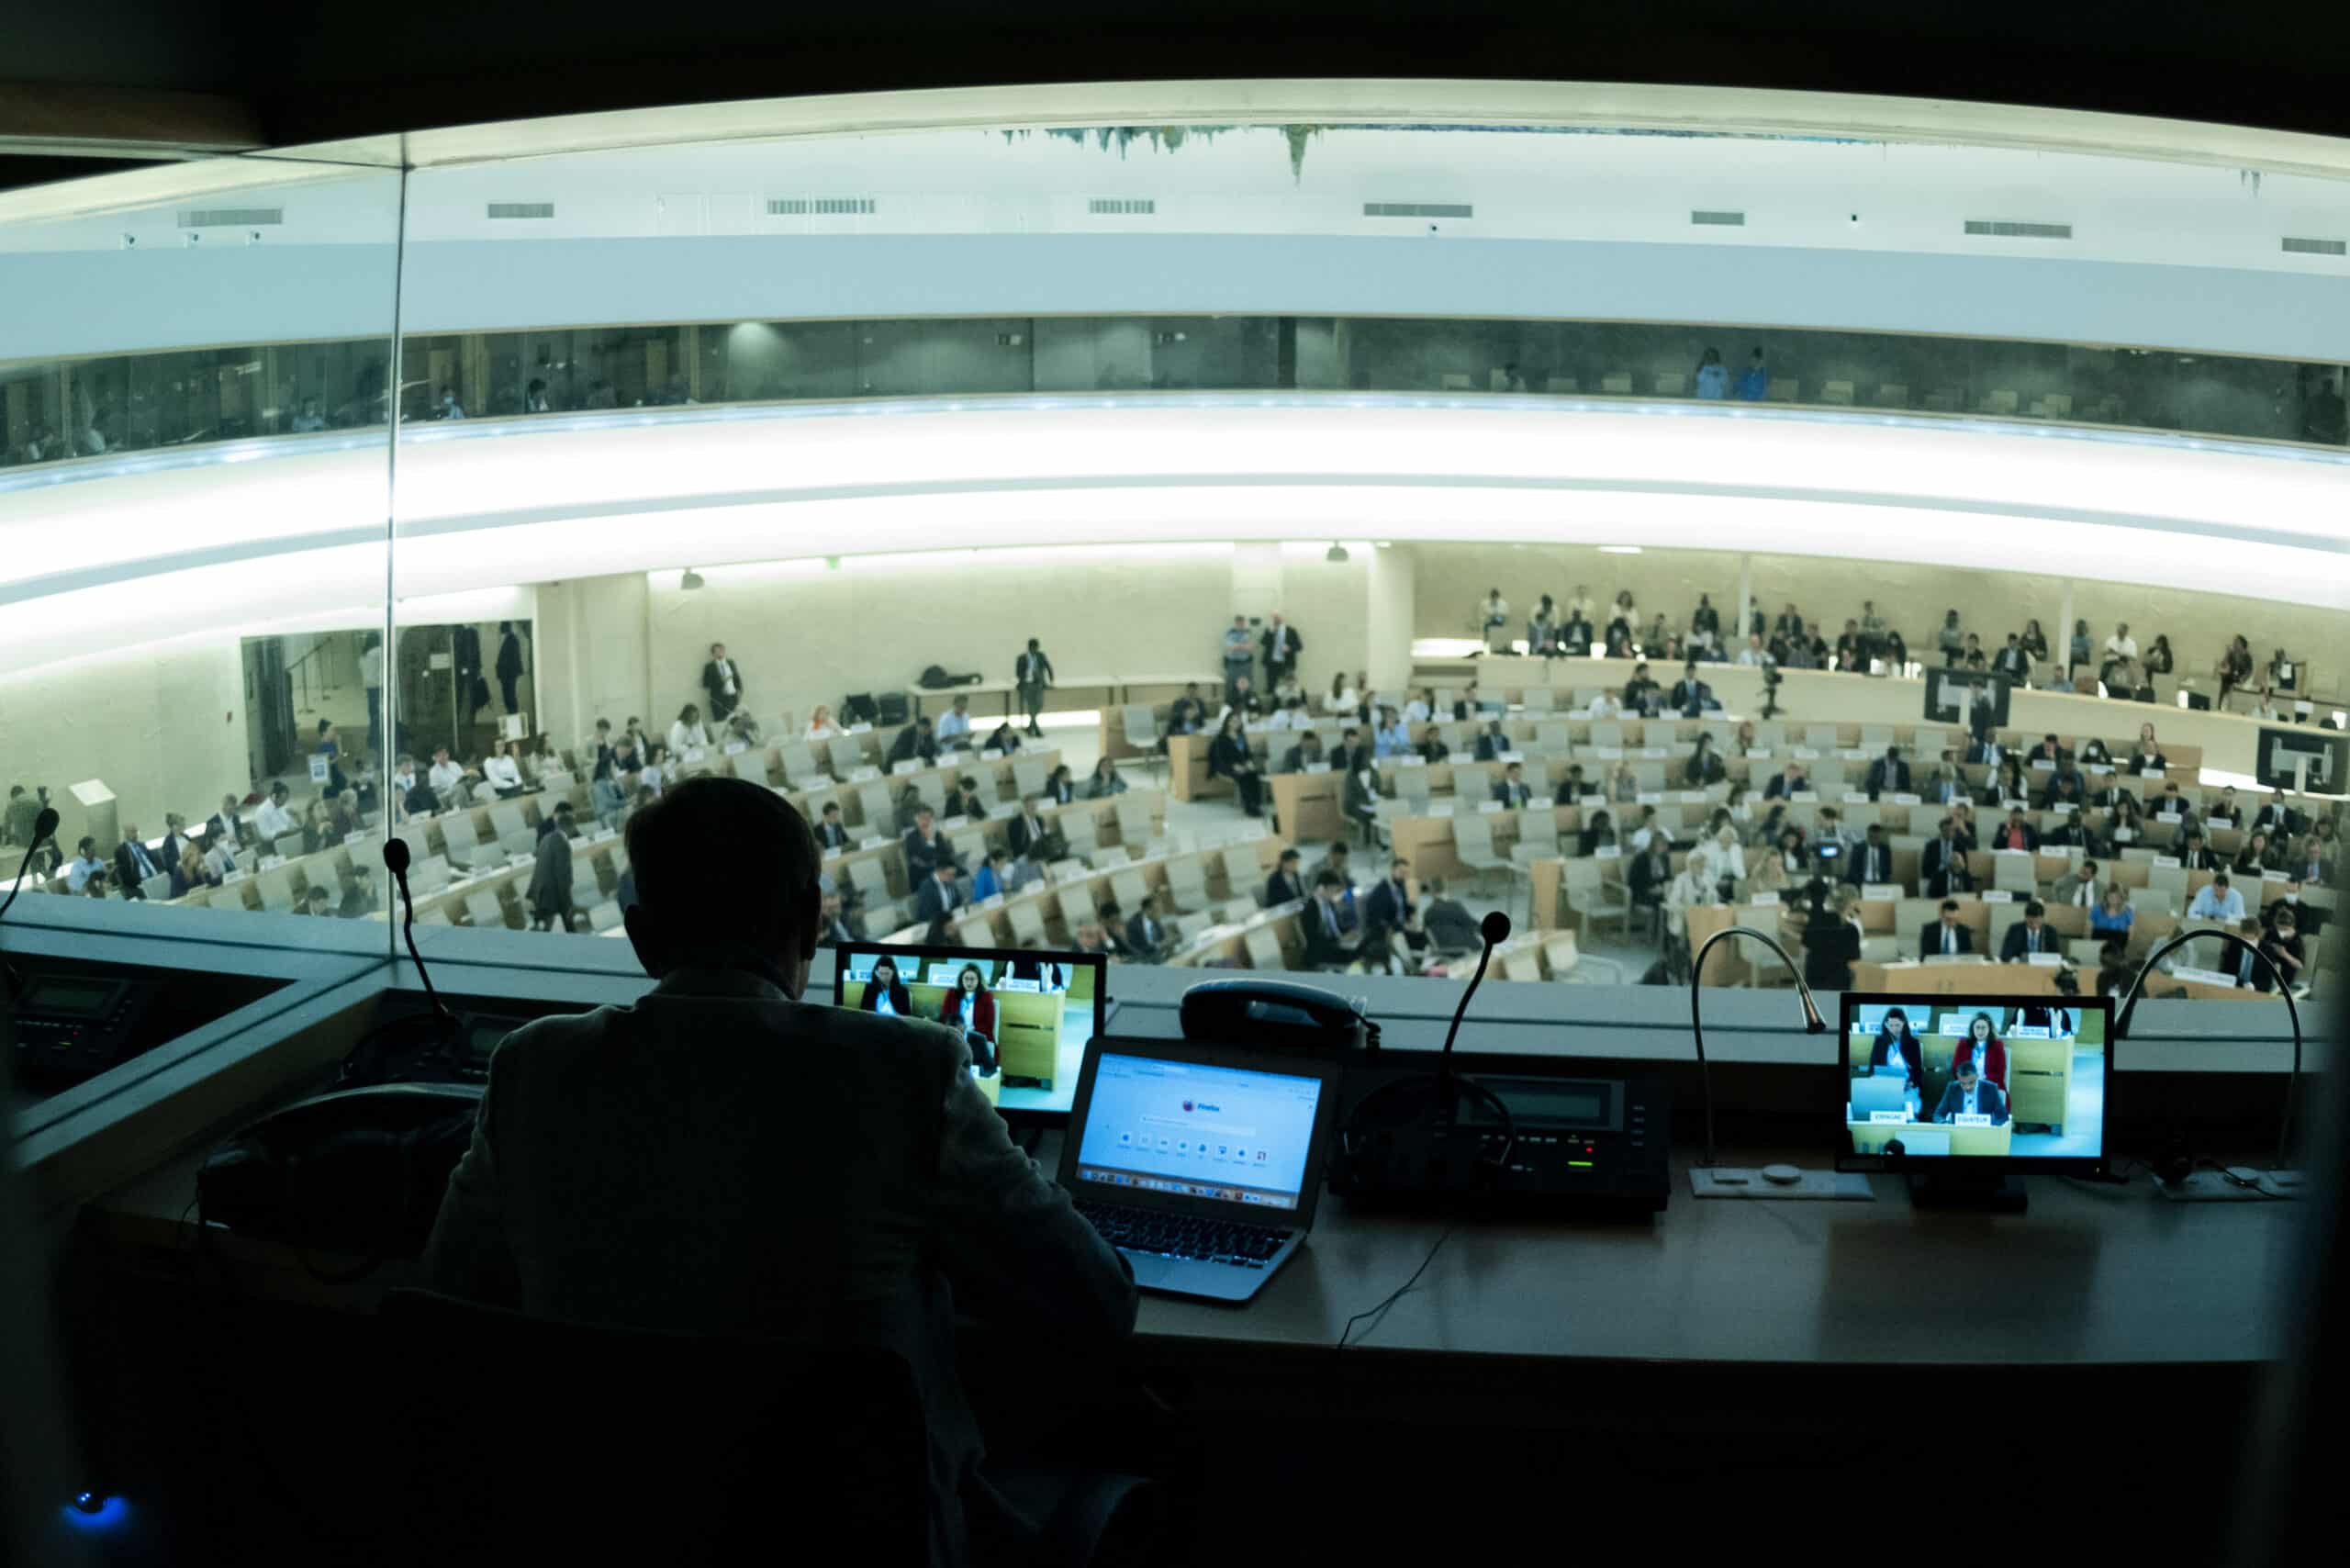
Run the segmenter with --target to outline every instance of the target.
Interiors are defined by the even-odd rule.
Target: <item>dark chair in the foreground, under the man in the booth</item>
[[[928,1561],[928,1434],[893,1349],[569,1324],[416,1288],[390,1291],[378,1324],[383,1450],[407,1455],[378,1500],[400,1561],[799,1556],[778,1521],[822,1521],[877,1566]],[[1046,1568],[1137,1561],[1166,1530],[1140,1476],[994,1453],[985,1474],[1041,1521]]]

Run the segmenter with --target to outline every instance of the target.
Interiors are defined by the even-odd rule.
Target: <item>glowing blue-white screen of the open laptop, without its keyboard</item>
[[[1088,1182],[1297,1208],[1321,1079],[1102,1053],[1076,1150]]]

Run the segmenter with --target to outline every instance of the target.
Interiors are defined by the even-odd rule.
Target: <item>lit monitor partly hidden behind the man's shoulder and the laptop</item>
[[[1086,1041],[1109,1027],[1109,959],[846,943],[832,952],[832,1004],[961,1030],[971,1074],[1006,1121],[1060,1124],[1076,1103]]]

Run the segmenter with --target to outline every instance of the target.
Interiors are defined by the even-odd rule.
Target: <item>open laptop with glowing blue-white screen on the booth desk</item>
[[[1337,1063],[1095,1037],[1060,1185],[1144,1291],[1246,1302],[1314,1225],[1337,1084]]]

